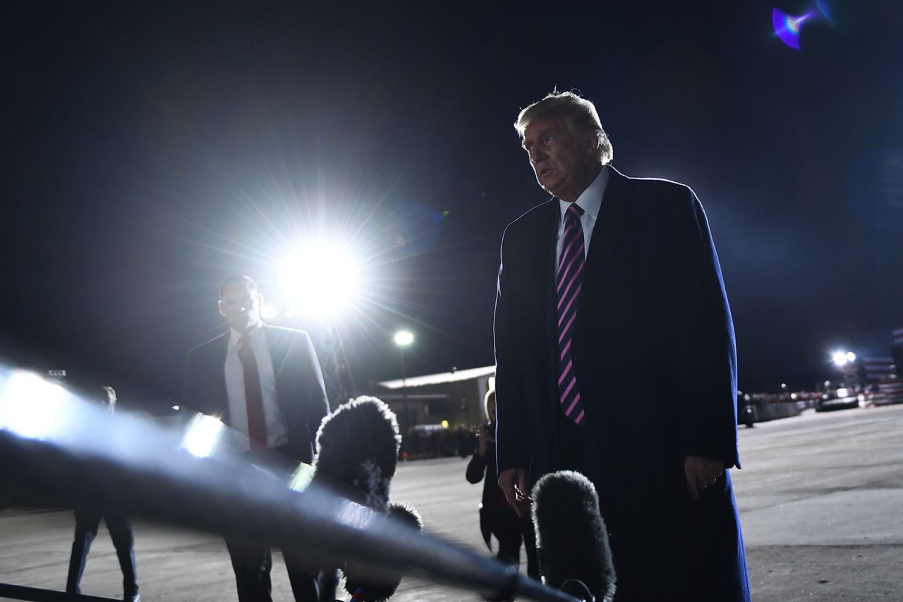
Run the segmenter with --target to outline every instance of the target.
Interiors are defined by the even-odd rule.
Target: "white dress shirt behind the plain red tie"
[[[270,357],[266,333],[261,326],[248,331],[251,349],[260,375],[260,392],[264,400],[264,423],[266,426],[266,447],[279,447],[288,443],[285,423],[279,401],[276,399],[276,379],[273,372],[273,358]],[[247,435],[247,401],[245,400],[245,371],[238,357],[238,342],[244,334],[234,328],[229,329],[228,350],[226,352],[226,394],[228,396],[229,426]],[[246,440],[240,446],[242,451],[250,448]]]

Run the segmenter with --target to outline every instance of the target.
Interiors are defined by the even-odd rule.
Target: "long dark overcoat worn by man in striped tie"
[[[686,186],[606,169],[573,340],[586,410],[580,450],[557,403],[558,200],[505,232],[498,469],[538,477],[576,467],[591,478],[611,532],[616,599],[745,600],[730,475],[698,500],[684,477],[684,456],[740,466],[733,327],[708,223]]]

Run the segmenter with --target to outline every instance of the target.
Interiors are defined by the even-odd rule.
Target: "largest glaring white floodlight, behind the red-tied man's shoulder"
[[[312,240],[285,261],[282,287],[288,302],[300,311],[332,315],[358,292],[358,266],[346,246]]]

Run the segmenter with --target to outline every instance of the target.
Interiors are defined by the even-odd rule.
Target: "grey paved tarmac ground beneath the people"
[[[740,428],[743,469],[732,471],[758,602],[903,600],[903,406],[847,409]],[[485,551],[480,485],[467,460],[399,467],[396,501],[413,503],[428,531]],[[0,512],[0,582],[62,589],[74,519],[70,512]],[[217,537],[135,522],[142,599],[235,600]],[[291,600],[281,559],[274,599]],[[121,596],[121,575],[102,528],[82,580],[86,594]],[[345,597],[347,599],[348,597]],[[468,592],[405,579],[394,600],[479,600]]]

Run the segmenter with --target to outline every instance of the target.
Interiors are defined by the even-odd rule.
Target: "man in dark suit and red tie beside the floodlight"
[[[189,352],[182,402],[247,435],[247,450],[265,449],[311,464],[321,419],[329,414],[320,362],[311,337],[263,324],[263,296],[247,276],[219,291],[228,332]],[[240,602],[271,600],[268,546],[226,539]],[[315,575],[290,553],[285,565],[295,600],[317,599]]]

